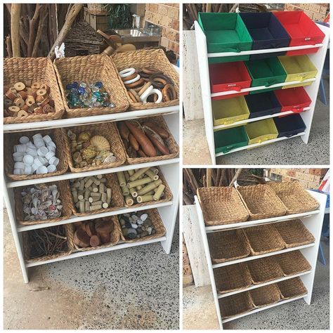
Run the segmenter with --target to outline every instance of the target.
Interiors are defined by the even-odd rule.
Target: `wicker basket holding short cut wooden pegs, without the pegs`
[[[98,209],[96,211],[86,211],[84,213],[79,213],[75,207],[72,195],[70,194],[70,209],[75,216],[91,216],[91,214],[100,214],[105,213],[105,211],[115,211],[119,208],[124,207],[124,197],[122,195],[122,190],[120,189],[119,183],[117,181],[117,176],[115,174],[105,174],[103,175],[106,178],[105,187],[112,189],[111,194],[111,204],[112,207]]]

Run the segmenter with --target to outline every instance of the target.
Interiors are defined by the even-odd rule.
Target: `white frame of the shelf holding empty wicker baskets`
[[[266,310],[266,308],[271,308],[273,306],[280,306],[284,303],[287,303],[289,301],[294,301],[296,299],[302,298],[302,299],[304,299],[304,301],[306,301],[306,303],[308,303],[308,305],[311,304],[313,281],[315,278],[315,266],[316,266],[317,258],[318,258],[318,249],[319,249],[319,244],[320,244],[322,222],[323,222],[324,215],[325,215],[325,206],[326,206],[327,195],[323,195],[322,193],[312,192],[312,191],[308,191],[308,192],[315,198],[315,200],[317,200],[320,203],[320,207],[315,211],[310,211],[310,212],[301,213],[301,214],[291,214],[291,215],[286,215],[286,216],[279,216],[279,217],[275,217],[275,218],[265,218],[262,220],[232,223],[232,224],[226,224],[226,225],[221,225],[221,226],[205,226],[204,216],[202,214],[202,208],[200,206],[200,202],[199,202],[197,196],[195,196],[195,205],[197,207],[197,216],[198,216],[199,224],[200,224],[202,242],[204,244],[204,252],[206,254],[206,259],[207,259],[207,264],[208,264],[209,278],[211,281],[211,288],[213,291],[214,302],[215,302],[215,306],[216,306],[216,315],[217,315],[218,322],[219,322],[221,329],[223,329],[223,323],[225,323],[225,322],[229,322],[231,320],[241,318],[245,315],[251,315],[252,313]],[[301,245],[299,247],[282,249],[280,251],[270,252],[270,253],[261,254],[261,255],[257,255],[257,256],[247,256],[245,258],[236,259],[233,261],[226,261],[226,262],[217,263],[217,264],[212,263],[211,254],[210,254],[210,250],[209,250],[209,242],[207,240],[208,233],[214,233],[214,231],[230,230],[230,229],[236,229],[236,228],[248,228],[248,227],[252,227],[252,226],[265,225],[268,223],[277,223],[280,221],[292,220],[294,218],[301,219],[303,225],[306,226],[306,228],[310,231],[310,233],[313,235],[313,237],[315,237],[315,242],[313,242],[311,244]],[[282,253],[296,251],[296,250],[300,250],[301,253],[303,254],[303,256],[308,261],[308,263],[310,263],[310,265],[311,265],[310,271],[299,273],[299,274],[292,275],[292,276],[279,278],[279,279],[276,279],[273,281],[261,283],[259,285],[252,285],[251,287],[247,287],[246,289],[237,290],[235,292],[227,292],[226,294],[218,294],[218,292],[216,290],[215,279],[214,279],[214,269],[216,269],[218,267],[222,267],[222,266],[229,266],[229,265],[233,265],[235,263],[252,261],[252,260],[263,258],[266,256],[274,256],[275,254],[282,254]],[[280,282],[282,280],[292,279],[292,278],[295,278],[296,276],[299,276],[301,278],[303,285],[308,290],[308,293],[305,296],[298,296],[298,297],[294,297],[292,299],[281,300],[278,303],[270,304],[268,306],[263,306],[262,308],[255,308],[252,311],[249,311],[247,313],[242,313],[241,315],[235,315],[231,318],[223,319],[221,317],[220,306],[218,303],[219,299],[224,298],[226,296],[233,295],[233,294],[237,294],[240,292],[245,292],[247,290],[263,287],[264,285],[270,285],[275,282]],[[254,329],[254,327],[248,327],[248,329]]]

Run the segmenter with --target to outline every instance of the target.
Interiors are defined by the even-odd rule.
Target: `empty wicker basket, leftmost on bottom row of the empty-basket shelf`
[[[249,292],[240,292],[218,300],[223,319],[241,315],[254,309]]]

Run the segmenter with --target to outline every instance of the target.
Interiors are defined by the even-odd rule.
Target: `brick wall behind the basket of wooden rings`
[[[161,46],[179,55],[179,4],[146,4],[145,20],[162,27]]]

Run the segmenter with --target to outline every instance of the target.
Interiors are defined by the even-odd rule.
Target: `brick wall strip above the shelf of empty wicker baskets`
[[[282,181],[298,181],[303,188],[318,189],[328,169],[270,169],[270,176],[281,176]]]

